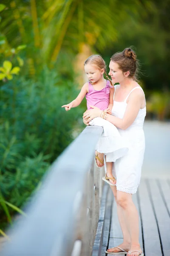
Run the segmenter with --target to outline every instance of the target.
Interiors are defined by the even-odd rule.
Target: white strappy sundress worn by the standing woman
[[[141,89],[141,87],[134,87],[133,90]],[[116,91],[116,85],[115,85]],[[115,95],[114,91],[114,95]],[[143,91],[143,90],[142,90]],[[112,115],[123,118],[127,107],[127,95],[124,102],[116,102],[113,95]],[[118,128],[119,134],[126,141],[129,151],[125,156],[116,160],[112,167],[113,176],[116,177],[116,189],[122,192],[134,194],[137,191],[141,178],[141,169],[144,158],[145,139],[143,131],[144,118],[146,116],[146,106],[139,110],[136,119],[126,130]],[[105,164],[106,172],[106,164]]]

